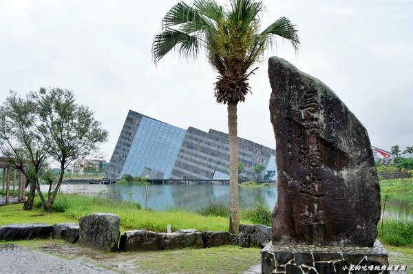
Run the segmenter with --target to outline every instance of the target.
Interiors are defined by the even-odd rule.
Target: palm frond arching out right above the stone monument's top
[[[261,35],[267,38],[268,43],[271,43],[273,37],[270,34],[278,35],[284,39],[287,39],[293,44],[294,50],[299,48],[298,30],[295,29],[296,25],[293,25],[286,17],[280,17],[277,21],[272,23],[266,28]]]

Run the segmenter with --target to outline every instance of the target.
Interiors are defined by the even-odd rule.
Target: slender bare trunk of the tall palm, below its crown
[[[237,103],[228,104],[229,131],[229,233],[240,229],[240,207],[238,196],[238,138]]]

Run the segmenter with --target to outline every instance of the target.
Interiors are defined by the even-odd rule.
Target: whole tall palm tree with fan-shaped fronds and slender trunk
[[[248,77],[257,69],[252,66],[261,61],[275,35],[290,41],[295,50],[299,46],[295,25],[285,17],[259,32],[263,10],[262,2],[254,0],[230,0],[226,9],[214,0],[195,0],[191,6],[181,1],[165,15],[162,32],[152,45],[155,63],[173,48],[184,56],[195,57],[203,47],[218,72],[214,95],[218,103],[227,105],[228,111],[231,233],[237,233],[240,226],[237,104],[245,101],[250,91]]]

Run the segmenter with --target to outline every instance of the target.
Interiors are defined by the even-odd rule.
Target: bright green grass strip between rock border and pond
[[[120,231],[145,229],[155,232],[166,232],[171,224],[172,231],[178,229],[198,229],[198,231],[227,231],[228,218],[204,216],[193,212],[169,210],[153,211],[140,209],[138,204],[119,202],[106,198],[90,198],[76,194],[59,194],[54,203],[54,213],[44,213],[36,208],[23,210],[23,204],[11,204],[0,207],[0,225],[25,222],[78,222],[81,216],[90,213],[113,213],[120,216]],[[242,220],[250,224],[249,220]]]

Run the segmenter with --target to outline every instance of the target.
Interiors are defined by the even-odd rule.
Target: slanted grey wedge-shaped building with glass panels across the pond
[[[241,179],[255,178],[256,165],[266,167],[262,176],[276,170],[274,149],[238,138],[238,154],[244,165]],[[214,129],[181,129],[129,110],[105,178],[123,174],[151,179],[229,180],[229,136]]]

